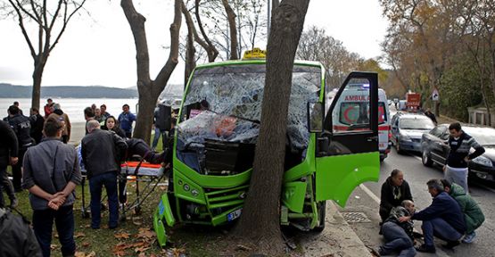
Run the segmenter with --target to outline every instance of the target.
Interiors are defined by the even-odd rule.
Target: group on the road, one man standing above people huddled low
[[[392,170],[382,185],[379,214],[380,234],[385,244],[375,249],[380,255],[399,252],[399,256],[415,256],[417,252],[435,253],[433,237],[445,241],[452,249],[460,243],[473,243],[475,230],[484,221],[483,211],[469,195],[467,163],[484,153],[483,146],[464,132],[458,122],[450,124],[450,154],[445,163],[444,178],[426,182],[432,203],[416,211],[404,172]],[[474,152],[470,149],[474,148]],[[413,220],[421,220],[421,233],[413,233]],[[424,244],[415,245],[417,238]]]

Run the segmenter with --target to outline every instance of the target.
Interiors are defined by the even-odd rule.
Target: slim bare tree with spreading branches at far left
[[[22,36],[29,46],[29,52],[34,61],[33,92],[31,107],[39,109],[41,96],[41,79],[45,70],[48,56],[59,43],[63,32],[67,29],[69,21],[78,13],[86,3],[86,0],[8,0],[8,12],[19,20]],[[56,4],[54,4],[56,3]],[[28,22],[34,22],[37,33],[29,35]]]

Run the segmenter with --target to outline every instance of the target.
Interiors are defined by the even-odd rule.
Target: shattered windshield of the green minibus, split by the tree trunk
[[[265,64],[236,64],[195,70],[177,127],[184,145],[204,139],[255,144],[261,116]],[[293,68],[287,134],[293,150],[309,142],[308,102],[317,102],[320,67]]]

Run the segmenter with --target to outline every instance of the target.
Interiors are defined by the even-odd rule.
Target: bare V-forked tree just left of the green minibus
[[[175,0],[174,21],[170,25],[170,53],[169,59],[163,65],[155,79],[150,77],[150,56],[148,54],[148,43],[144,29],[144,16],[136,11],[132,0],[121,0],[122,7],[136,45],[137,62],[137,92],[139,95],[139,114],[137,115],[134,137],[142,138],[150,142],[150,131],[153,124],[153,110],[161,91],[167,85],[172,71],[178,62],[179,29],[182,22],[181,15],[182,0]]]

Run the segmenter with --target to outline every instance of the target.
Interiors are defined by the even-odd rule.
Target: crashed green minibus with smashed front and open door
[[[177,222],[222,226],[242,215],[261,126],[266,60],[259,54],[193,70],[173,135],[169,188],[153,213],[159,245]],[[351,72],[342,85],[326,85],[325,75],[320,62],[293,64],[280,225],[304,231],[325,228],[326,200],[344,206],[355,187],[379,176],[376,73]],[[356,83],[368,85],[368,120],[336,130],[340,106],[327,105],[326,90],[340,99]]]

